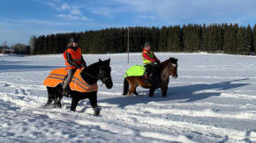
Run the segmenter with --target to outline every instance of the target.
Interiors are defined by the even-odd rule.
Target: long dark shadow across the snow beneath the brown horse
[[[161,89],[156,89],[154,92],[154,97],[148,96],[137,96],[137,97],[114,97],[99,100],[99,103],[109,103],[109,104],[118,104],[119,107],[124,108],[126,105],[132,104],[147,104],[149,102],[158,102],[158,101],[170,101],[170,100],[183,100],[179,103],[186,102],[195,102],[207,97],[219,97],[222,93],[222,90],[225,89],[235,89],[250,83],[232,83],[248,80],[249,78],[232,80],[228,82],[219,82],[213,84],[193,84],[193,85],[184,85],[178,87],[169,87],[168,96],[162,97]],[[211,91],[211,89],[213,89]],[[205,91],[207,90],[207,91]],[[148,95],[148,90],[143,90],[139,94]]]

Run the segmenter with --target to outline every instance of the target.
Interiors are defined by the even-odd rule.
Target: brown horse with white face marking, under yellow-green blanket
[[[145,82],[144,75],[142,76],[130,76],[124,78],[124,91],[123,95],[138,95],[136,88],[141,86],[142,88],[149,89],[149,97],[154,96],[154,90],[161,88],[162,97],[166,97],[169,75],[177,78],[177,59],[170,57],[166,61],[162,61],[159,65],[155,65],[151,84]]]

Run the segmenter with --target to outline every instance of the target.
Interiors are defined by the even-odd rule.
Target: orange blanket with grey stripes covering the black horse
[[[70,82],[70,88],[79,92],[92,92],[98,90],[98,85],[89,85],[83,80],[80,73],[83,68],[78,68],[72,77],[72,82]],[[64,78],[67,75],[66,68],[57,68],[49,73],[49,76],[44,80],[43,85],[48,87],[56,87],[59,83],[64,82]]]

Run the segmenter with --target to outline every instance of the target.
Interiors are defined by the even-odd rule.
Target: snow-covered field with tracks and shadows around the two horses
[[[111,58],[114,86],[99,86],[100,117],[88,100],[70,111],[41,109],[42,82],[64,66],[62,54],[0,55],[0,142],[256,142],[256,57],[226,54],[156,53],[178,58],[178,77],[168,96],[124,97],[124,72],[142,64],[140,54],[84,54],[87,65]],[[99,82],[101,83],[101,82]]]

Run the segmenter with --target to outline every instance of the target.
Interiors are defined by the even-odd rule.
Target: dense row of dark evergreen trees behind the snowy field
[[[62,54],[71,37],[79,38],[83,54],[127,52],[127,28],[57,33],[34,38],[33,54]],[[254,54],[256,24],[169,25],[129,27],[129,51],[141,52],[149,41],[155,52]]]

